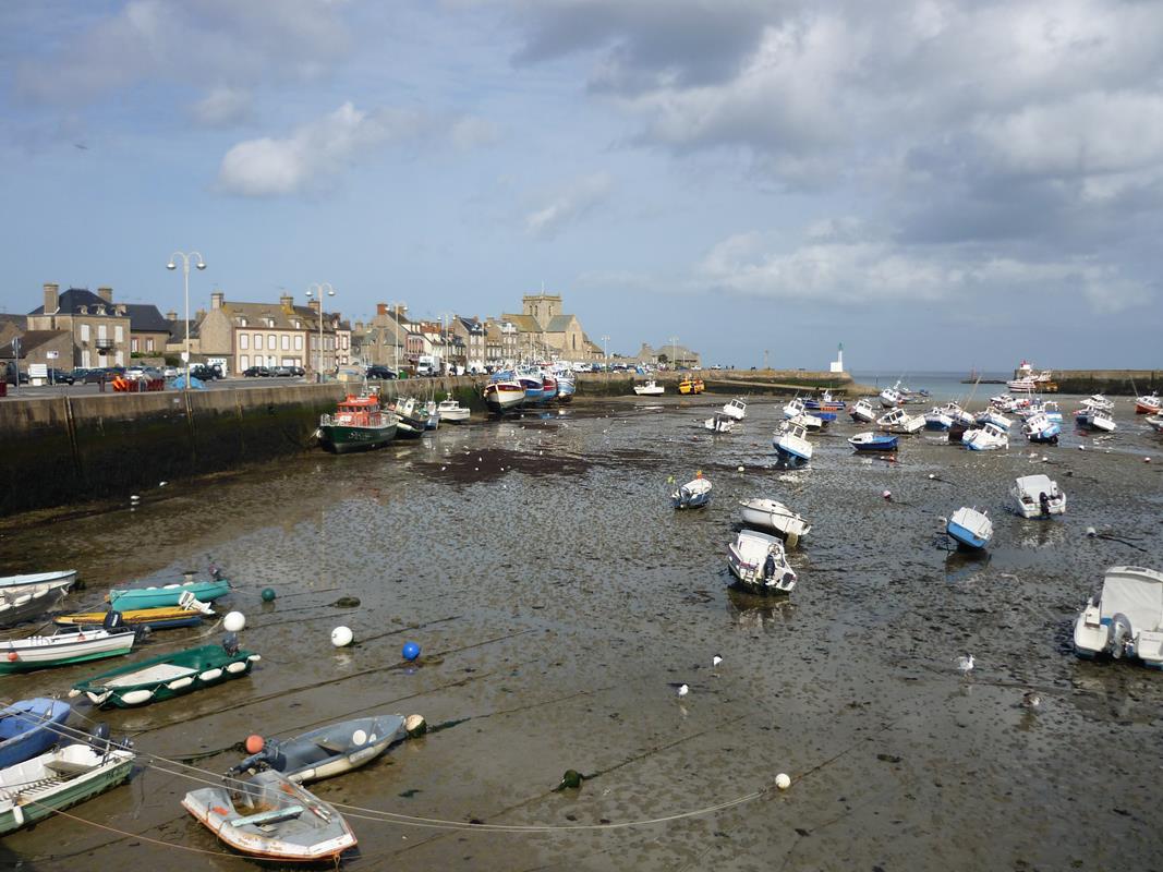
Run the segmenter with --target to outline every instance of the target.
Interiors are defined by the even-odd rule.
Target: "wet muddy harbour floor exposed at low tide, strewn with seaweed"
[[[324,800],[419,819],[347,812],[352,870],[1163,865],[1163,676],[1070,651],[1107,566],[1163,565],[1163,443],[1142,419],[1123,402],[1114,438],[1068,427],[1036,451],[1015,441],[973,453],[922,434],[891,463],[851,453],[857,428],[841,421],[814,439],[811,470],[783,472],[770,442],[779,406],[752,402],[734,434],[712,436],[699,424],[721,401],[447,426],[372,455],[154,488],[133,512],[126,494],[114,510],[8,519],[0,566],[76,566],[86,589],[71,610],[98,607],[115,582],[215,560],[237,585],[220,610],[247,615],[243,644],[263,660],[142,709],[74,700],[73,723],[100,717],[156,757],[70,813],[112,829],[50,820],[6,837],[0,865],[252,869],[183,812],[200,782],[163,760],[193,760],[214,781],[248,734],[371,712],[454,726],[317,785]],[[695,470],[714,501],[675,513],[668,477]],[[1030,472],[1062,484],[1065,517],[1006,513],[1014,477]],[[757,495],[813,522],[785,600],[727,588],[737,500]],[[962,505],[994,519],[987,558],[949,553],[937,535]],[[340,624],[358,644],[331,646]],[[221,637],[158,631],[134,657],[204,634]],[[406,639],[423,649],[414,667],[400,659]],[[963,679],[966,652],[977,669]],[[6,677],[3,698],[63,694],[123,662]],[[1036,713],[1020,705],[1029,689]],[[554,792],[568,769],[592,778]],[[793,778],[783,793],[779,772]],[[654,819],[672,820],[616,825]]]

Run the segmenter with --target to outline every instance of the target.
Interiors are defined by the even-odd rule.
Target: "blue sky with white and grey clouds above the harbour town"
[[[1161,365],[1147,0],[0,5],[0,309],[565,296],[599,344]]]

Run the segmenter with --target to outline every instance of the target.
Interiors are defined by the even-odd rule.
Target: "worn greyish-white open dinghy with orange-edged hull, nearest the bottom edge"
[[[227,785],[191,791],[181,806],[236,851],[264,860],[337,863],[356,844],[334,807],[278,772]]]

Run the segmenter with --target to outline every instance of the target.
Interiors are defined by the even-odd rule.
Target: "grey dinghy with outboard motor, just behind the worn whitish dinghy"
[[[350,772],[391,745],[426,729],[420,715],[371,715],[333,723],[294,738],[263,739],[263,748],[227,770],[228,775],[272,769],[295,784]]]

